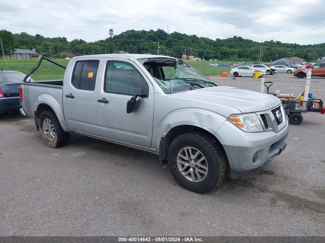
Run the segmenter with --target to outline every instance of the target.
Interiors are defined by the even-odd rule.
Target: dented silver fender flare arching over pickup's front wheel
[[[211,134],[215,134],[226,120],[227,118],[222,115],[201,108],[175,110],[167,114],[158,124],[153,135],[153,138],[156,139],[153,141],[152,148],[159,151],[161,138],[165,137],[174,127],[191,125],[202,128]]]

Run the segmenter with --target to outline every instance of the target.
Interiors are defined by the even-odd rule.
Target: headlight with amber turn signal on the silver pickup
[[[263,132],[263,127],[255,113],[234,114],[228,121],[245,132]]]

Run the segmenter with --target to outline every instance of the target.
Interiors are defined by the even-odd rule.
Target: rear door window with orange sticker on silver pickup
[[[98,60],[77,61],[71,83],[76,89],[94,91],[98,71]]]

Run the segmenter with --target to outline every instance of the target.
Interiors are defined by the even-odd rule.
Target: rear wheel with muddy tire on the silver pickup
[[[41,113],[38,120],[38,127],[42,139],[48,147],[58,148],[65,145],[69,140],[70,132],[63,130],[58,117],[51,110],[45,110]]]

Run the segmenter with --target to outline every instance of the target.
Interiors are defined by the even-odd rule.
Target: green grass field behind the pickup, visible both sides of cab
[[[66,66],[69,60],[53,59]],[[6,61],[8,64],[6,64]],[[36,66],[38,60],[0,60],[0,70],[11,70],[19,71],[22,73],[29,73],[32,68]],[[220,75],[221,72],[229,72],[230,67],[214,67],[207,63],[214,61],[188,61],[187,63],[200,71],[205,76]],[[48,61],[43,61],[41,66],[32,74],[34,80],[52,80],[52,79],[63,79],[65,69],[54,64],[50,64]]]

